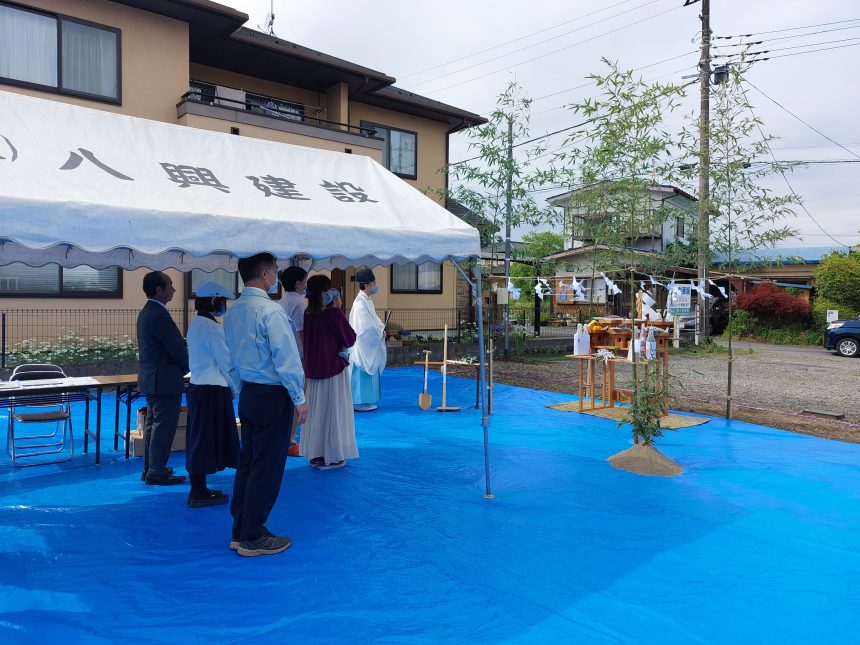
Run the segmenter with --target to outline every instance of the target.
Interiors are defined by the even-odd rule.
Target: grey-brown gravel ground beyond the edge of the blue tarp
[[[727,364],[728,353],[673,352],[672,408],[725,416]],[[576,365],[559,357],[497,360],[494,376],[499,383],[577,392]],[[617,380],[623,380],[623,370]],[[742,343],[735,350],[732,400],[735,419],[860,443],[858,359],[817,347]],[[802,414],[804,410],[845,416],[841,421],[818,418]]]

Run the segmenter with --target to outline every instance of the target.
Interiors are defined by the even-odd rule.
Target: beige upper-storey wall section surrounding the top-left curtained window
[[[22,5],[119,29],[122,104],[0,85],[52,101],[176,123],[176,103],[188,91],[188,24],[104,0],[31,0]]]

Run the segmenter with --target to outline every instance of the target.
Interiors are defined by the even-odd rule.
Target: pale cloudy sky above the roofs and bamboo
[[[247,26],[265,27],[270,0],[221,1],[249,14]],[[594,92],[577,86],[601,71],[601,57],[664,82],[695,74],[698,61],[701,4],[684,7],[684,0],[273,3],[279,37],[384,72],[399,87],[460,108],[487,115],[508,81],[518,81],[534,99],[532,136],[576,123],[565,106]],[[765,131],[779,137],[774,155],[856,162],[811,164],[788,176],[806,210],[788,222],[802,239],[782,245],[860,243],[860,4],[713,0],[711,16],[714,36],[736,36],[715,40],[716,55],[733,51],[726,45],[744,42],[737,38],[742,34],[765,41],[752,51],[769,50],[760,57],[770,60],[753,65],[747,79],[757,88],[749,98]],[[684,112],[698,105],[697,86],[690,89]],[[549,138],[549,148],[563,137]],[[470,156],[467,146],[467,136],[452,137],[451,161]],[[781,177],[773,188],[788,191]]]

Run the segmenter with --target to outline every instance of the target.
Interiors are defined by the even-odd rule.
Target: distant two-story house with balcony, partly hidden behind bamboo
[[[616,214],[611,212],[588,212],[578,200],[580,191],[567,191],[550,197],[547,201],[563,209],[563,235],[565,250],[547,257],[554,262],[553,277],[553,310],[557,313],[572,313],[584,306],[597,305],[604,307],[613,305],[613,298],[607,297],[606,284],[600,273],[618,277],[620,266],[613,264],[607,258],[617,255],[617,242],[611,247],[606,240],[595,239],[595,231],[600,230],[600,224]],[[675,242],[687,241],[687,227],[695,221],[697,200],[689,193],[662,184],[654,184],[647,188],[642,195],[640,208],[664,207],[677,209],[677,216],[664,216],[659,222],[646,228],[629,231],[624,239],[624,249],[635,255],[661,253]],[[693,272],[695,273],[695,272]],[[686,276],[685,276],[686,277]],[[560,285],[569,285],[573,278],[582,282],[584,298],[579,298],[573,289]],[[624,281],[618,286],[622,293],[617,295],[618,313],[626,312],[630,302],[630,294]]]

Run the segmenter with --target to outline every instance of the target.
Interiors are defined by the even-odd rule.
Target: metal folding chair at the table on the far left
[[[10,381],[35,381],[40,379],[65,378],[66,374],[56,365],[30,363],[19,365],[9,377]],[[53,425],[53,431],[41,434],[22,433],[23,426]],[[68,455],[60,459],[38,459],[43,455],[60,455],[66,450],[68,435]],[[15,397],[9,405],[9,429],[6,435],[6,452],[12,457],[15,466],[37,466],[69,461],[75,456],[75,442],[72,437],[72,415],[69,397],[66,394],[47,394],[44,396]],[[23,461],[22,461],[23,460]]]

